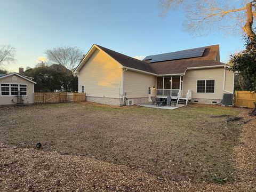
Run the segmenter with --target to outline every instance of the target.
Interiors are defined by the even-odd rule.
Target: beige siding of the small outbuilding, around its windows
[[[17,77],[17,81],[13,81],[12,77]],[[30,81],[27,81],[26,79],[23,79],[17,75],[11,75],[8,77],[4,77],[0,79],[1,83],[8,83],[8,84],[27,84],[27,96],[23,96],[23,103],[29,104],[34,103],[34,83],[31,83]],[[1,91],[1,90],[0,90]],[[0,105],[12,105],[15,104],[12,102],[12,99],[14,102],[17,102],[17,96],[15,95],[3,95],[0,96]]]

